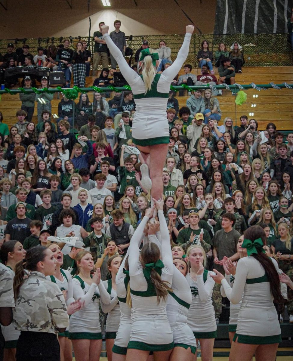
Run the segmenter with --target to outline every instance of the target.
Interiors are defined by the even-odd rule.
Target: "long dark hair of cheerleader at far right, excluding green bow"
[[[251,226],[244,232],[244,239],[250,239],[254,241],[255,239],[261,238],[263,245],[266,245],[266,234],[260,226]],[[271,294],[274,297],[274,302],[280,303],[283,300],[280,290],[280,279],[277,270],[272,263],[270,257],[267,257],[265,253],[262,253],[261,250],[257,251],[258,253],[252,253],[252,257],[255,258],[264,268],[265,273],[268,276],[270,282]]]

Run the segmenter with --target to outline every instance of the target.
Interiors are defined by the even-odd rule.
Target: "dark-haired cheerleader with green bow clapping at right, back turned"
[[[260,226],[252,226],[244,232],[242,248],[248,257],[237,263],[235,280],[231,288],[218,271],[212,276],[222,284],[228,299],[237,304],[242,297],[236,334],[229,361],[275,361],[281,342],[281,329],[273,301],[283,297],[275,260],[265,255],[266,234]],[[242,296],[243,294],[243,296]]]

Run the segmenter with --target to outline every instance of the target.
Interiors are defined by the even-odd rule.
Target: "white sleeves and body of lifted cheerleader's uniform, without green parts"
[[[127,83],[131,86],[131,91],[135,95],[141,95],[145,93],[145,84],[143,79],[139,74],[136,73],[133,69],[130,68],[126,60],[123,58],[121,51],[117,48],[117,46],[113,43],[109,34],[104,34],[104,39],[106,44],[109,47],[110,53],[114,56],[117,64],[119,65],[119,69],[126,79]],[[176,60],[173,62],[169,68],[165,69],[160,76],[160,79],[157,83],[157,91],[159,93],[169,93],[170,85],[175,76],[178,74],[179,70],[182,68],[184,61],[188,56],[189,44],[191,40],[191,34],[185,34],[184,41],[182,47],[180,48]],[[134,115],[134,119],[132,122],[132,134],[134,134],[134,138],[136,139],[145,139],[151,138],[152,136],[158,137],[161,135],[169,136],[169,126],[166,119],[166,107],[167,107],[167,97],[141,97],[139,99],[135,99],[136,104],[136,112]],[[163,120],[164,122],[160,123],[159,126],[159,135],[158,135],[158,127],[150,134],[145,134],[145,131],[141,131],[139,126],[136,125],[137,121],[146,121],[150,127],[156,125],[156,122],[159,120]]]

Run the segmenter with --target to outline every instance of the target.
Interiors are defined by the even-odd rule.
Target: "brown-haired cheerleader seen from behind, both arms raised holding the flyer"
[[[174,345],[166,314],[166,301],[174,272],[172,253],[163,200],[155,203],[161,227],[162,253],[152,242],[145,244],[139,252],[144,229],[153,216],[154,207],[146,210],[129,247],[132,314],[126,361],[146,361],[150,351],[158,360],[169,361]]]

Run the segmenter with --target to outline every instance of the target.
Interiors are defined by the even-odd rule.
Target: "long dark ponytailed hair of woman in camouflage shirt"
[[[16,264],[15,276],[13,279],[13,292],[15,300],[19,295],[19,289],[21,288],[23,282],[25,282],[25,269],[29,271],[35,271],[37,269],[37,264],[41,261],[44,261],[44,258],[46,257],[46,251],[47,247],[45,246],[40,245],[32,247],[27,250],[25,258]]]

